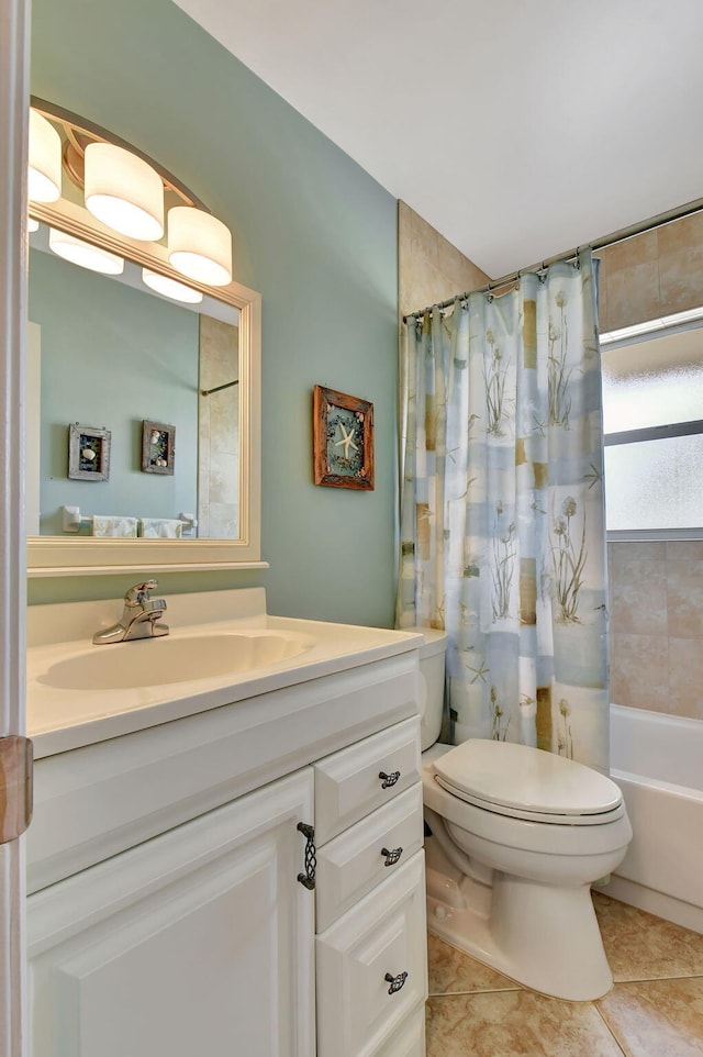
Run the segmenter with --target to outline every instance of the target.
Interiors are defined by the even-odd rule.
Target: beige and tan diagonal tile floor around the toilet
[[[703,1057],[703,936],[593,902],[615,980],[596,1002],[537,994],[431,935],[427,1057]]]

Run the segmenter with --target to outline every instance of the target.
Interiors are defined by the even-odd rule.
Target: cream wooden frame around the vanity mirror
[[[183,282],[160,243],[120,235],[65,199],[30,203],[30,216]],[[27,254],[29,259],[29,254]],[[110,539],[27,537],[27,576],[268,568],[260,559],[261,528],[261,296],[238,282],[188,286],[239,310],[239,536],[236,539]]]

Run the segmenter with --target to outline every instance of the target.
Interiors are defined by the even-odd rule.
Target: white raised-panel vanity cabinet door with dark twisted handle
[[[312,769],[32,895],[33,1057],[312,1057]]]

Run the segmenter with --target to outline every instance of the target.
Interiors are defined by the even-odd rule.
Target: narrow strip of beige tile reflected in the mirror
[[[239,535],[238,333],[230,323],[200,316],[198,534],[211,539]]]

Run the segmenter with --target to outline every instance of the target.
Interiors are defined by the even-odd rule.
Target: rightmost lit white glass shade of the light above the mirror
[[[189,279],[224,287],[232,282],[232,233],[210,213],[175,205],[168,212],[168,259]]]

